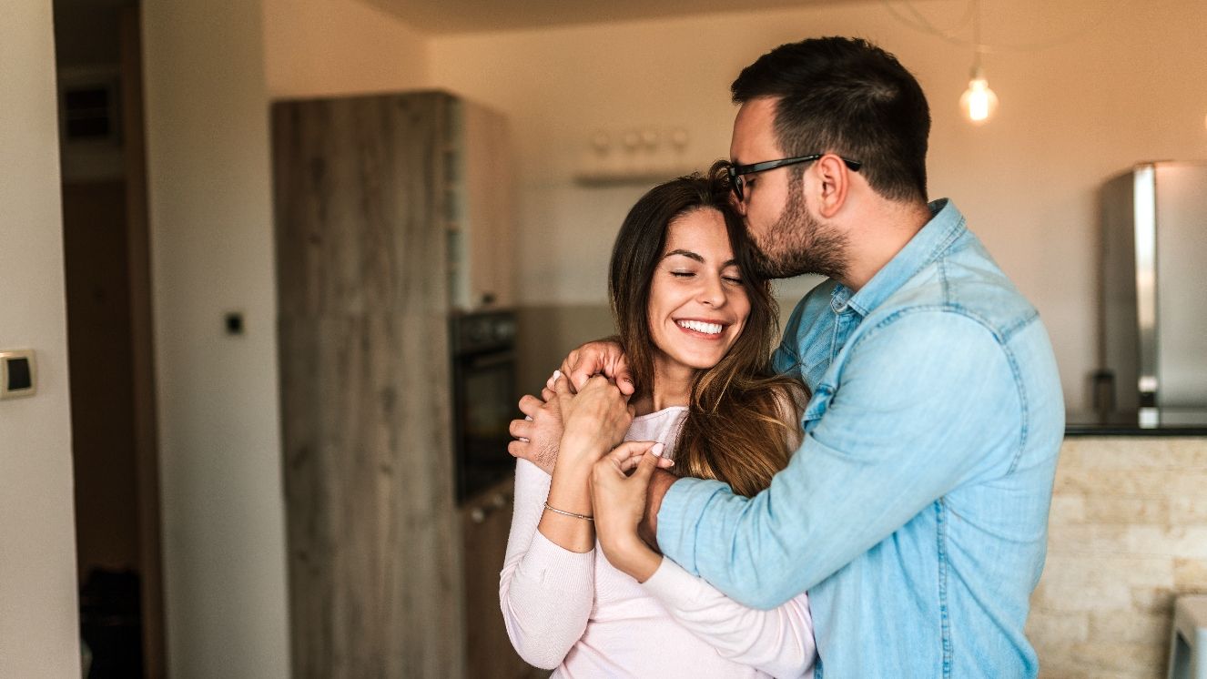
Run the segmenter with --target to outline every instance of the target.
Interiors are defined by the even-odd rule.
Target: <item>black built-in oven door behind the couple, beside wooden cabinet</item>
[[[519,414],[514,352],[503,349],[457,357],[454,385],[457,501],[463,502],[515,467],[507,453],[508,427]]]

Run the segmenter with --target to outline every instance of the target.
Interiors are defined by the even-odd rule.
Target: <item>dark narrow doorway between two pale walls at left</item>
[[[165,675],[139,7],[56,0],[84,677]]]

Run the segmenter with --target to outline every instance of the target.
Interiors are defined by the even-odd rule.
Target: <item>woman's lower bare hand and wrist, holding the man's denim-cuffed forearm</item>
[[[608,562],[645,583],[658,570],[663,557],[637,537],[646,513],[646,490],[657,467],[671,466],[659,457],[663,444],[626,441],[595,463],[591,470],[591,504],[595,535]],[[631,472],[631,475],[630,475]]]

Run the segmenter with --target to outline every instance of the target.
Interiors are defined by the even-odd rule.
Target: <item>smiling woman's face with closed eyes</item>
[[[649,286],[655,357],[712,368],[737,341],[750,311],[721,212],[698,209],[672,219]]]

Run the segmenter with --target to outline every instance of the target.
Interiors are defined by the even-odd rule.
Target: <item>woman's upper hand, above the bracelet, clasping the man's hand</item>
[[[632,408],[616,385],[599,375],[587,380],[577,394],[570,392],[566,377],[553,386],[564,427],[556,467],[589,473],[595,461],[624,439]]]

